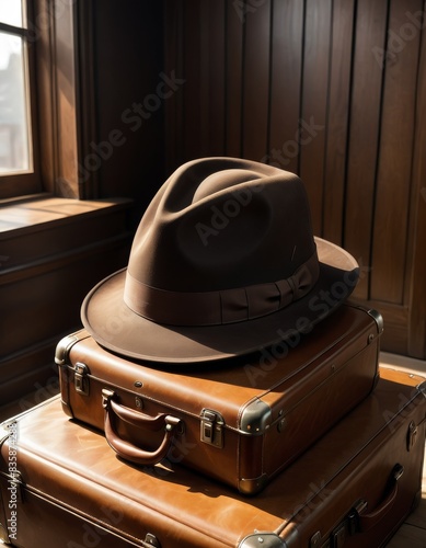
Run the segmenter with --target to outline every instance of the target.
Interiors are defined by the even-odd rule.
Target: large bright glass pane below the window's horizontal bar
[[[30,169],[24,44],[0,33],[0,172]]]

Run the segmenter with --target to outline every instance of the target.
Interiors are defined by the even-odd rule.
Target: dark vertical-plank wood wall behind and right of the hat
[[[354,297],[382,311],[384,347],[426,357],[424,1],[164,7],[185,78],[169,172],[224,153],[298,173],[314,232],[361,265]]]

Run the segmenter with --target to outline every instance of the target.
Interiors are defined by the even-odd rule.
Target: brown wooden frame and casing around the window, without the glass
[[[81,159],[95,139],[91,114],[93,3],[24,1],[28,20],[30,81],[34,82],[30,94],[34,173],[3,175],[0,202],[42,193],[96,198],[97,173],[91,173],[87,181],[79,174]]]

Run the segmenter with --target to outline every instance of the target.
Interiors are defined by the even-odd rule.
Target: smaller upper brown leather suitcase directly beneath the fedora
[[[129,461],[182,461],[254,494],[372,390],[381,331],[378,312],[344,305],[292,349],[176,372],[82,330],[57,346],[64,410]]]

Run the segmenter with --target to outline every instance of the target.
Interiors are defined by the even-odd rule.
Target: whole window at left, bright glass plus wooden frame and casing
[[[92,10],[76,0],[0,0],[0,201],[94,192],[94,176],[82,182],[78,171],[95,130]]]

